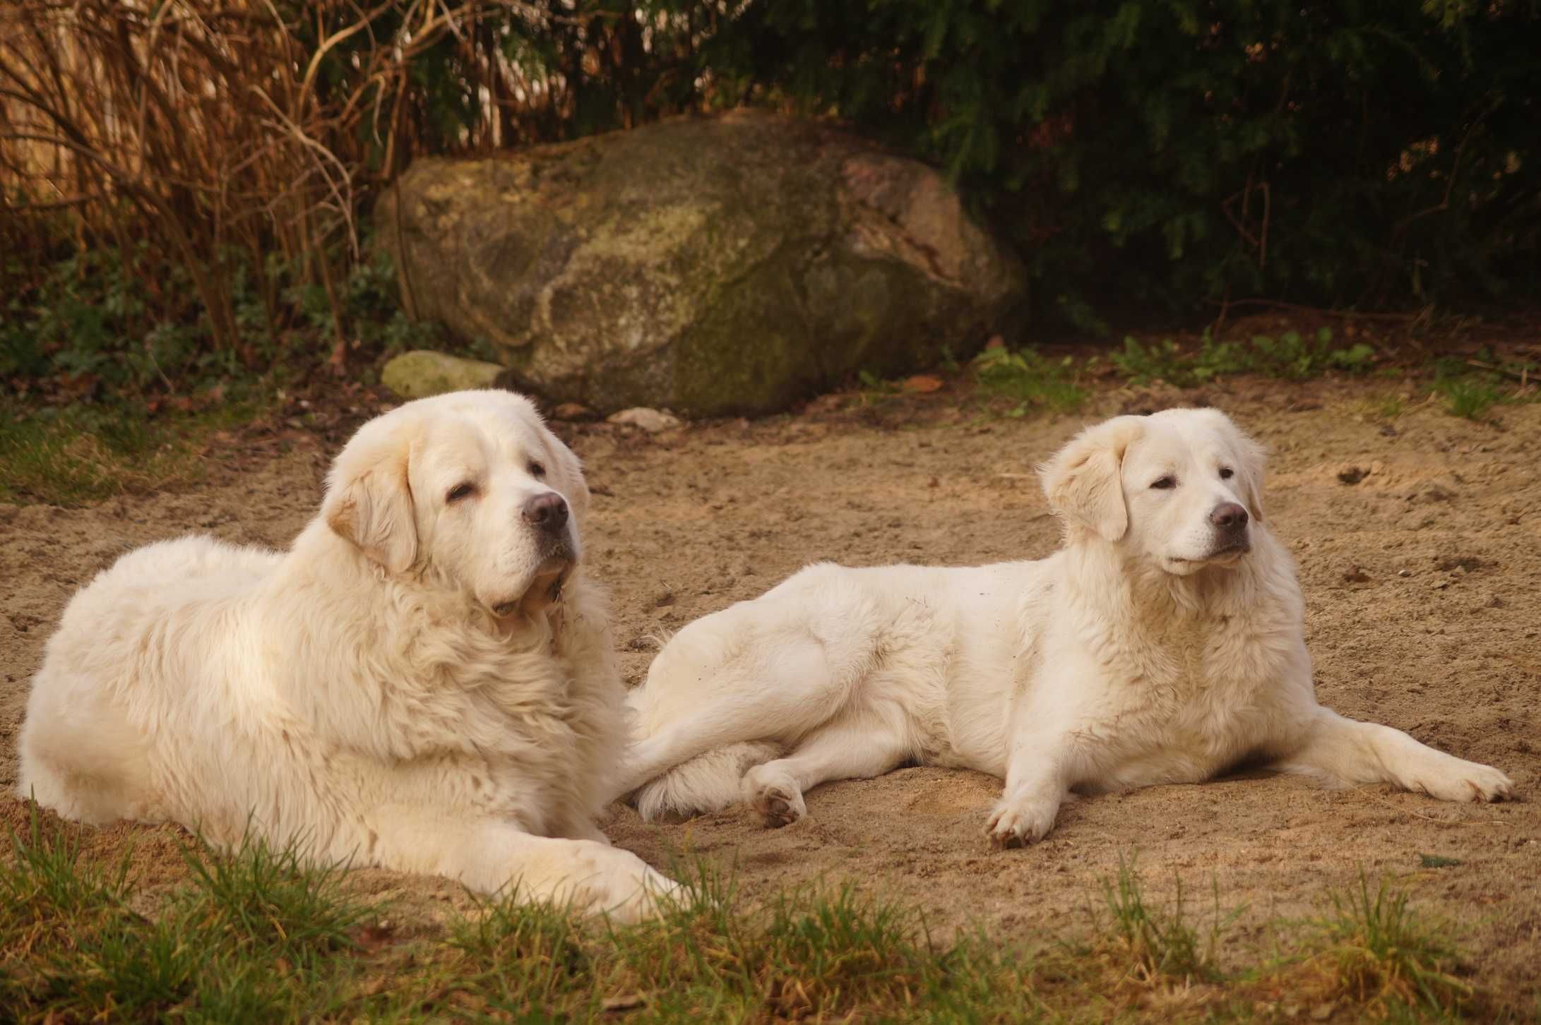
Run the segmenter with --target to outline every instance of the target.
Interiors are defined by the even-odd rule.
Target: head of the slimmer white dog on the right
[[[1099,536],[1168,573],[1236,566],[1262,523],[1262,449],[1219,410],[1116,416],[1040,470],[1071,541]]]

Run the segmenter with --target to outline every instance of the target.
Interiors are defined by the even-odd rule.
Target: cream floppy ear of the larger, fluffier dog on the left
[[[391,573],[418,560],[418,523],[407,481],[410,455],[411,439],[402,432],[364,436],[361,430],[331,464],[321,507],[333,532]]]

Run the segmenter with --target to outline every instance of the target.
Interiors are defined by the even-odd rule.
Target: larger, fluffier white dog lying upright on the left
[[[165,541],[71,600],[20,795],[647,914],[673,883],[595,826],[626,737],[587,502],[522,396],[367,422],[288,552]]]

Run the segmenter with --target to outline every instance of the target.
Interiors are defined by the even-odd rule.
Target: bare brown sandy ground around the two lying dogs
[[[1208,916],[1244,908],[1231,937],[1321,909],[1361,869],[1393,874],[1418,905],[1455,923],[1469,966],[1504,1002],[1535,1007],[1541,974],[1541,405],[1472,424],[1435,405],[1395,421],[1370,413],[1395,384],[1239,382],[1204,396],[1117,392],[1077,416],[991,419],[948,393],[863,407],[817,402],[803,416],[718,422],[647,436],[561,425],[595,490],[590,566],[609,583],[627,683],[650,635],[750,598],[814,560],[971,564],[1040,556],[1057,543],[1031,465],[1079,425],[1202,398],[1271,450],[1267,515],[1293,549],[1325,704],[1496,765],[1516,802],[1442,805],[1382,788],[1328,792],[1250,775],[1160,786],[1063,809],[1043,843],[994,851],[983,818],[999,781],[901,769],[807,795],[780,831],[747,809],[649,826],[612,808],[621,846],[664,865],[681,851],[737,866],[747,896],[789,883],[852,882],[925,909],[942,929],[980,923],[1031,937],[1086,922],[1097,880],[1137,851],[1151,894],[1183,883]],[[291,435],[287,452],[227,453],[196,490],[88,509],[0,506],[0,786],[29,675],[69,593],[146,541],[205,530],[284,546],[310,516],[336,436]],[[223,459],[223,461],[220,461]],[[0,798],[25,825],[26,806]],[[92,851],[133,842],[148,883],[180,875],[177,831],[80,831]],[[0,842],[3,845],[3,842]],[[1422,869],[1421,854],[1461,863]],[[362,872],[421,922],[464,905],[442,880]],[[1239,949],[1239,948],[1237,948]]]

